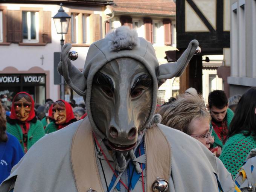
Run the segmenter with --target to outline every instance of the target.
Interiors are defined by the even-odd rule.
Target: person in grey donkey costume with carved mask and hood
[[[177,62],[159,66],[151,43],[121,26],[91,44],[80,72],[64,45],[58,71],[84,97],[87,117],[37,142],[0,191],[235,191],[212,152],[154,114],[158,87],[181,75],[197,47],[192,40]]]

